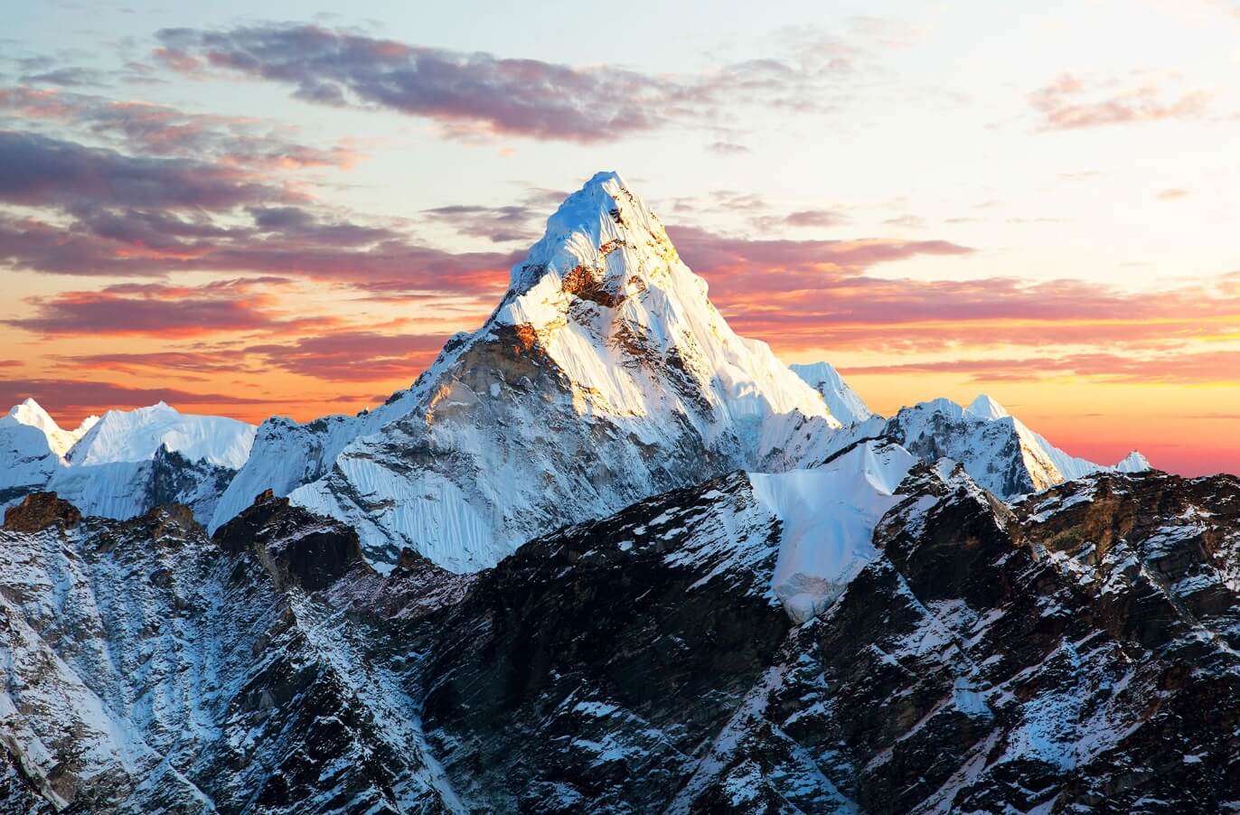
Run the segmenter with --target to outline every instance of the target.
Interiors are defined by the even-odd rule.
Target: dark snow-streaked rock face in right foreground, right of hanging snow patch
[[[1224,809],[1240,484],[1106,475],[1008,514],[919,478],[673,811]]]

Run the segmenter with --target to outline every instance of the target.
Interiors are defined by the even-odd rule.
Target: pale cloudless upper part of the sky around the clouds
[[[371,158],[332,179],[334,201],[413,217],[449,203],[511,203],[525,185],[568,189],[618,169],[656,202],[718,189],[785,210],[837,208],[832,237],[931,236],[980,249],[880,273],[1023,274],[1154,284],[1235,265],[1240,19],[1224,2],[304,2],[20,4],[9,33],[31,55],[115,67],[149,58],[164,26],[215,29],[319,20],[374,36],[574,67],[692,76],[746,58],[796,60],[816,38],[856,50],[858,69],[820,88],[821,113],[745,105],[720,127],[676,124],[611,143],[444,139],[393,112],[360,114],[259,83],[172,77],[126,92],[187,110],[277,118],[316,138],[357,140]],[[797,38],[801,45],[797,45]],[[1109,86],[1141,76],[1168,96],[1209,94],[1192,120],[1042,131],[1028,94],[1061,73]],[[1140,74],[1140,76],[1138,76]],[[1122,135],[1121,131],[1122,130]],[[714,141],[749,153],[717,155]],[[795,158],[790,158],[795,156]],[[1073,176],[1071,179],[1064,176]],[[1185,190],[1161,200],[1164,190]],[[666,213],[666,206],[665,213]],[[671,220],[671,213],[666,213]],[[722,213],[703,222],[729,226]],[[904,218],[899,223],[889,220]],[[916,221],[914,221],[916,220]],[[913,223],[921,226],[914,227]],[[429,229],[439,241],[461,239]],[[751,227],[734,225],[751,232]],[[804,237],[804,236],[802,236]]]

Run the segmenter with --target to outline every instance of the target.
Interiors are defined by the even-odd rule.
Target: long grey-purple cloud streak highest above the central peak
[[[290,86],[296,98],[317,104],[371,104],[425,117],[455,135],[582,143],[717,122],[724,109],[750,103],[821,110],[830,107],[831,87],[853,69],[821,42],[701,76],[655,76],[459,53],[315,25],[165,29],[157,36],[156,58],[181,72],[237,72]]]

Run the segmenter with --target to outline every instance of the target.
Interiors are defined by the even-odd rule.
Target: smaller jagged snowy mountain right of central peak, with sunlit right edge
[[[1107,468],[1064,453],[988,396],[968,407],[950,399],[901,408],[879,434],[925,461],[949,458],[963,464],[978,485],[1003,499],[1044,490],[1105,470],[1148,470],[1140,453]]]

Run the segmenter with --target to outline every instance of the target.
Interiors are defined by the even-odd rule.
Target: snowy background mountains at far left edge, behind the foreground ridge
[[[176,502],[206,523],[246,461],[254,427],[160,402],[108,411],[72,433],[33,401],[0,418],[0,507],[51,490],[87,515],[129,519]],[[67,443],[72,442],[72,444]]]

